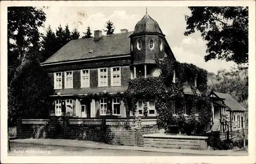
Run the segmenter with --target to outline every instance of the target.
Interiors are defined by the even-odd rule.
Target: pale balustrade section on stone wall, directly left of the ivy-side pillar
[[[110,126],[133,126],[135,125],[134,118],[116,118],[116,119],[106,119],[106,125]]]

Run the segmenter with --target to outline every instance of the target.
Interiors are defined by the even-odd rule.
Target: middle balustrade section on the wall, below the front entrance
[[[103,119],[101,118],[79,118],[69,119],[70,125],[103,125]]]

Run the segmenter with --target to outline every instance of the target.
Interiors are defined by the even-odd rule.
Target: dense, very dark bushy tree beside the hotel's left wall
[[[16,120],[19,116],[48,116],[51,105],[49,95],[54,90],[35,52],[26,57],[15,75],[8,87],[9,121],[11,118]]]

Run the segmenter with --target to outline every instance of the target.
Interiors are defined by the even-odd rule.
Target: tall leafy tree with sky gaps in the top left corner
[[[38,28],[43,26],[46,14],[35,7],[8,7],[8,86],[16,69],[24,61],[29,50],[40,49]]]

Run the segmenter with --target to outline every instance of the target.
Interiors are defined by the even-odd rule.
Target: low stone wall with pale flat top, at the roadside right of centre
[[[207,138],[205,136],[182,136],[166,134],[145,134],[144,146],[172,149],[207,149]]]

